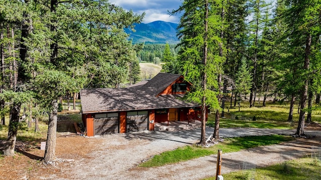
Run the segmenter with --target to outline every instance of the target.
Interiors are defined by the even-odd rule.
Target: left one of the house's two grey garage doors
[[[119,132],[118,113],[95,114],[94,133],[103,135]]]

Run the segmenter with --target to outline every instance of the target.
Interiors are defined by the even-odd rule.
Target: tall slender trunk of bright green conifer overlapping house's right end
[[[202,72],[202,86],[203,86],[203,97],[202,97],[202,130],[201,130],[201,140],[200,144],[206,144],[206,133],[205,133],[205,123],[206,123],[206,83],[207,83],[207,74],[206,74],[206,63],[207,63],[207,33],[208,33],[208,0],[205,3],[205,19],[204,19],[204,51],[203,51],[203,67],[204,70]]]

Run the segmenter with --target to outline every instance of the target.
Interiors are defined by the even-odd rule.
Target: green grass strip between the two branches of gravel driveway
[[[265,136],[247,136],[225,138],[224,142],[213,145],[211,147],[201,147],[197,145],[186,145],[175,150],[166,151],[153,156],[139,166],[152,167],[162,166],[165,164],[176,163],[180,161],[190,160],[206,155],[217,154],[218,149],[222,149],[224,153],[236,152],[241,149],[256,147],[259,145],[271,145],[283,141],[291,140],[292,137],[284,135],[265,135]]]

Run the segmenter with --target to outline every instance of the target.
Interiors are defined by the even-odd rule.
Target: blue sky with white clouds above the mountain
[[[141,14],[145,12],[144,23],[155,20],[179,23],[180,15],[168,14],[168,10],[179,8],[183,0],[109,0],[109,2],[119,5],[124,9]]]

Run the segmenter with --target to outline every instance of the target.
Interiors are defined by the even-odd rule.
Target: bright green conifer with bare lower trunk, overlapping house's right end
[[[219,56],[221,1],[185,0],[172,14],[183,12],[178,28],[181,49],[178,59],[183,63],[183,74],[193,86],[186,98],[202,104],[200,144],[205,144],[205,110],[207,105],[219,109],[217,67],[224,58]],[[216,8],[218,7],[218,8]]]

